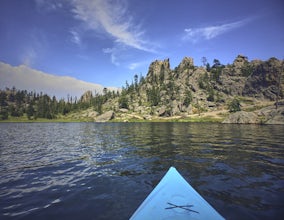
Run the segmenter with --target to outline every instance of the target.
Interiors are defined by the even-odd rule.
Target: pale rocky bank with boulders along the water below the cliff
[[[229,113],[227,109],[208,111],[200,114],[183,114],[163,117],[159,115],[141,115],[128,109],[107,111],[101,115],[92,109],[69,115],[72,121],[90,122],[215,122],[224,124],[284,124],[284,101],[268,105],[254,111],[238,111]],[[249,109],[249,106],[246,106]]]

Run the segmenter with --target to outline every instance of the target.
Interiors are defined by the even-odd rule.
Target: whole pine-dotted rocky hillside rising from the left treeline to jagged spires
[[[206,58],[203,61],[204,66],[195,66],[192,58],[185,57],[171,69],[169,59],[156,60],[146,77],[135,75],[121,91],[87,91],[76,102],[68,100],[68,112],[59,112],[91,121],[186,118],[210,112],[254,111],[284,98],[283,60],[249,62],[238,55],[228,65],[217,59],[212,65]]]

